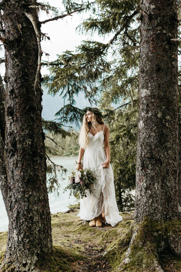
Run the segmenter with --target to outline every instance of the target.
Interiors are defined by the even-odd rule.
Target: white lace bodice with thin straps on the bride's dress
[[[103,148],[104,128],[103,130],[98,131],[95,135],[88,132],[88,141],[89,143],[87,148]]]

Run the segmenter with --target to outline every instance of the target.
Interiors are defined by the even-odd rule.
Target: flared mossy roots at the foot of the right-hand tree
[[[181,256],[181,222],[161,223],[145,218],[134,226],[129,246],[116,271],[164,272],[160,258],[165,252],[168,256]]]

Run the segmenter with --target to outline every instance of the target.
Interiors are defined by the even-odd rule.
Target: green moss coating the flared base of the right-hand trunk
[[[139,226],[134,226],[134,231],[136,229],[137,234],[130,247],[130,261],[125,264],[122,270],[129,271],[131,269],[132,272],[136,272],[148,271],[152,268],[154,271],[155,262],[163,265],[163,262],[160,261],[163,253],[167,251],[166,259],[172,255],[168,248],[169,234],[180,234],[181,223],[176,220],[160,223],[146,217]],[[172,255],[172,263],[178,264],[177,259],[178,257]]]

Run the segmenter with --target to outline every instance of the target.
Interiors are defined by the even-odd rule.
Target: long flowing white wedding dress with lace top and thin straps
[[[103,131],[104,128],[95,135],[88,132],[89,142],[84,151],[82,166],[95,170],[97,182],[92,185],[92,190],[96,197],[87,190],[87,197],[80,198],[80,212],[77,216],[83,220],[91,220],[104,211],[105,223],[115,226],[122,220],[122,216],[119,215],[116,203],[112,166],[111,164],[108,168],[101,166],[107,160],[103,149]]]

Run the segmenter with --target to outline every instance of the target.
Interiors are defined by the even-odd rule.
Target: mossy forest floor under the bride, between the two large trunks
[[[39,261],[37,267],[43,272],[118,271],[132,237],[133,213],[120,213],[123,220],[115,227],[103,225],[102,228],[91,228],[88,222],[76,216],[78,211],[72,209],[68,213],[51,215],[54,253],[51,258]],[[4,257],[6,241],[7,232],[1,232],[0,263]],[[135,263],[126,265],[122,271],[152,271],[149,270],[149,262],[153,256],[149,252],[149,248],[138,250],[138,254],[135,252]],[[176,256],[162,252],[157,257],[164,271],[181,271],[181,260]]]

